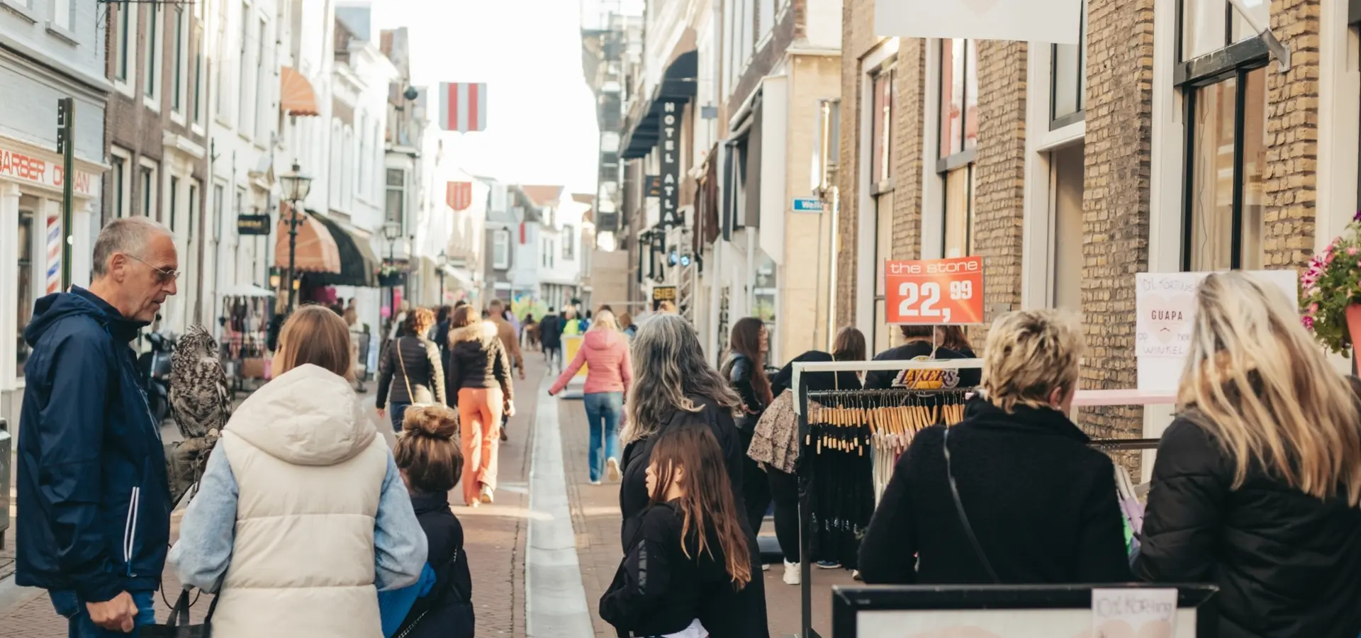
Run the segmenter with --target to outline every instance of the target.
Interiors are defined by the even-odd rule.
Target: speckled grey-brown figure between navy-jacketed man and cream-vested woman
[[[201,325],[189,328],[170,356],[170,409],[184,441],[167,443],[176,502],[197,484],[208,454],[231,416],[231,390],[218,359],[218,341]],[[192,498],[192,495],[191,495]]]

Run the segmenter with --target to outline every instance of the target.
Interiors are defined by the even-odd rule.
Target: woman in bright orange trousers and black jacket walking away
[[[472,306],[453,312],[445,396],[459,408],[463,437],[463,502],[490,503],[497,488],[501,414],[514,416],[514,384],[497,326]]]

